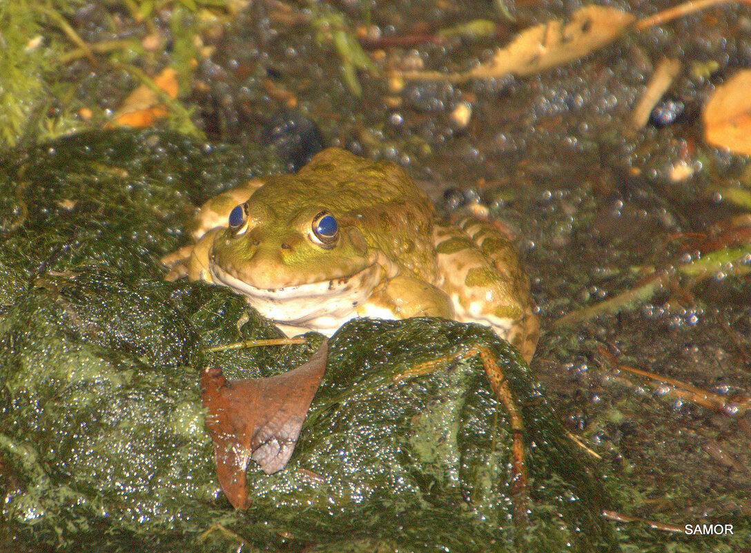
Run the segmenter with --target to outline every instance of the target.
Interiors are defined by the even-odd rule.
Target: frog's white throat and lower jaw
[[[251,307],[278,323],[286,334],[316,330],[327,335],[357,316],[358,307],[372,295],[385,272],[374,263],[352,276],[262,289],[243,282],[221,267],[211,268],[215,283],[245,295]]]

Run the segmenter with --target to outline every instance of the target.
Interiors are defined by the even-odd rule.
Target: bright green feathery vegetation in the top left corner
[[[148,34],[160,37],[153,18],[162,8],[170,9],[169,63],[179,75],[181,89],[188,89],[200,11],[213,7],[227,13],[231,2],[124,0],[121,11],[132,17],[125,20],[125,26],[135,30],[136,38],[94,44],[84,41],[72,23],[82,6],[83,2],[66,0],[0,2],[0,150],[104,125],[108,119],[104,105],[121,101],[123,92],[149,80],[146,72],[164,66],[163,53],[147,51],[140,41]],[[123,23],[105,17],[100,30],[122,33]],[[84,65],[74,68],[82,59]],[[125,88],[96,84],[106,83],[106,75],[116,71],[129,75]],[[94,74],[97,78],[92,84],[87,77]],[[169,128],[198,134],[189,112],[178,101],[162,99],[169,109]],[[82,110],[88,113],[83,115]]]

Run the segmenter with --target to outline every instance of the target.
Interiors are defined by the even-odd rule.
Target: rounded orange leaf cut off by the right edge
[[[708,143],[751,156],[751,69],[718,86],[704,107]]]

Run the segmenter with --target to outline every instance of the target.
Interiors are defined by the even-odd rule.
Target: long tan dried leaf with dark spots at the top
[[[450,80],[495,78],[506,74],[529,75],[562,65],[610,44],[634,22],[635,17],[616,8],[589,5],[572,14],[569,23],[552,20],[520,32],[493,59],[464,73],[411,71],[407,79]]]

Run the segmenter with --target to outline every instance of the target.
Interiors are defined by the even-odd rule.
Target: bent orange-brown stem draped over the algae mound
[[[401,381],[422,374],[431,373],[433,370],[445,367],[446,364],[451,363],[452,361],[460,361],[473,357],[480,359],[485,370],[485,376],[487,376],[488,382],[490,382],[490,388],[493,389],[496,399],[502,403],[506,412],[508,412],[508,419],[511,422],[511,502],[514,506],[514,521],[519,527],[521,527],[528,521],[527,505],[529,503],[529,484],[527,480],[526,464],[524,463],[524,458],[526,456],[526,448],[524,446],[524,425],[521,413],[517,408],[516,399],[508,385],[508,380],[504,376],[501,367],[499,367],[499,364],[496,362],[496,355],[493,354],[490,348],[482,344],[468,345],[454,354],[445,355],[431,361],[416,364],[403,373],[394,376],[394,380]]]

